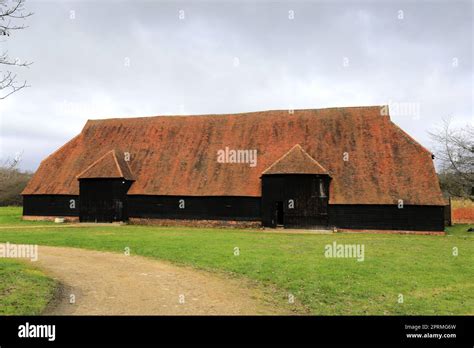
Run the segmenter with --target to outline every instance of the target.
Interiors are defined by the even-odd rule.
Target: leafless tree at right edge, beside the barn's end
[[[453,128],[449,120],[430,133],[438,148],[442,188],[453,196],[473,198],[474,188],[474,127]]]

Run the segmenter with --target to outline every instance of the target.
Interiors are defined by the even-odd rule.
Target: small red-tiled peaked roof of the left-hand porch
[[[110,150],[100,157],[79,175],[78,179],[90,178],[124,178],[134,180],[131,170],[125,161],[123,152],[117,154],[117,150]]]

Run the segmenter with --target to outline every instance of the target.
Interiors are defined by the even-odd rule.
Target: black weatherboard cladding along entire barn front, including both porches
[[[324,194],[320,192],[320,179]],[[126,221],[129,217],[262,221],[273,227],[280,206],[280,223],[285,227],[444,230],[444,206],[405,205],[400,209],[397,205],[326,205],[329,178],[324,176],[264,176],[262,198],[126,195],[129,185],[122,179],[83,179],[80,199],[74,195],[25,195],[23,214],[79,216],[81,212],[82,221]],[[293,209],[288,208],[290,199],[295,203]],[[180,200],[184,200],[184,208],[180,208]],[[117,215],[118,201],[122,204],[121,216]]]

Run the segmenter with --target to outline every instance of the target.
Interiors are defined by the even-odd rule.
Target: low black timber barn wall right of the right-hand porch
[[[443,206],[330,205],[329,225],[352,229],[443,231]]]

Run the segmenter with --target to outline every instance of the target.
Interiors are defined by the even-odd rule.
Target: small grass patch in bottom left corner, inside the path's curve
[[[38,315],[56,287],[41,271],[12,259],[0,259],[0,279],[0,315]]]

